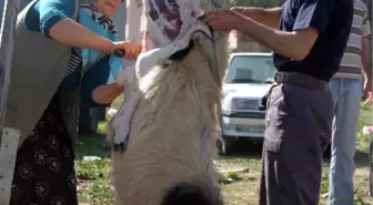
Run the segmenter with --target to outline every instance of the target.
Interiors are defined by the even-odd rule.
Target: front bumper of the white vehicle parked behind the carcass
[[[230,113],[221,119],[224,137],[264,137],[264,113]]]

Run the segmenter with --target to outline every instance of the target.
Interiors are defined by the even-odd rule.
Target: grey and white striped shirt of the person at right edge
[[[334,78],[362,79],[362,37],[371,34],[367,7],[361,0],[354,0],[354,17],[351,34],[343,54],[341,66]]]

